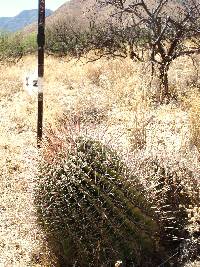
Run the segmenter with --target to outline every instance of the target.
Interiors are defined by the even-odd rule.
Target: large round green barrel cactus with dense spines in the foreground
[[[143,188],[98,141],[78,138],[56,163],[41,162],[35,205],[60,266],[147,267],[165,258]]]

